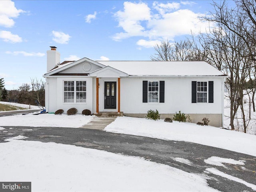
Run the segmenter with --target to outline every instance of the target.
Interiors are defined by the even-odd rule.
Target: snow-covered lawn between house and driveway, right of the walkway
[[[148,120],[144,118],[118,117],[104,129],[163,140],[193,142],[256,156],[256,136],[194,123]],[[241,144],[242,143],[242,144]],[[246,147],[245,147],[246,146]]]

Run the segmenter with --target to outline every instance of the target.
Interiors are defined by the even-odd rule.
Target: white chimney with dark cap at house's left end
[[[60,53],[56,51],[55,46],[50,46],[51,50],[47,51],[47,72],[60,64]]]

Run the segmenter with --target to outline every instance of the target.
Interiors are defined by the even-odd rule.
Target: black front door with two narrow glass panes
[[[104,108],[116,109],[116,82],[105,82],[104,90]]]

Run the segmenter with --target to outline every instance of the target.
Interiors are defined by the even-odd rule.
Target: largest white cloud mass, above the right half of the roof
[[[148,40],[140,40],[137,44],[152,47],[150,42],[161,39],[174,40],[177,36],[190,35],[191,31],[197,34],[200,30],[208,29],[208,22],[199,20],[199,17],[204,14],[180,9],[181,4],[185,5],[188,2],[153,2],[152,8],[144,2],[124,2],[124,10],[119,10],[114,14],[118,27],[121,27],[123,31],[114,34],[112,39],[120,41],[133,36],[141,36]],[[210,27],[213,27],[213,24]]]

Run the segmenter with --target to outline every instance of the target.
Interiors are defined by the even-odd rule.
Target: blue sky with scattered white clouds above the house
[[[46,51],[64,60],[150,60],[154,45],[208,28],[211,1],[0,1],[0,77],[8,90],[46,72]],[[44,79],[44,78],[42,78]]]

